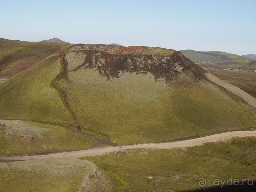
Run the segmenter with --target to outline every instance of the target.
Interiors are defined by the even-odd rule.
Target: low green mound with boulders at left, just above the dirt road
[[[6,131],[11,134],[4,134]],[[75,131],[51,124],[0,119],[0,155],[79,150],[93,145]],[[31,142],[24,140],[25,133],[33,137]]]

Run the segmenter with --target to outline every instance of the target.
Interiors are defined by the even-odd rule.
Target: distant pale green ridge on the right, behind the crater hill
[[[202,63],[227,63],[236,59],[239,55],[220,52],[220,51],[194,51],[194,50],[181,50],[180,51],[188,59],[202,64]]]

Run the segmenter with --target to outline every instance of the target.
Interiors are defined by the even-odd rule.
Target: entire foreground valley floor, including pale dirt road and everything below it
[[[172,143],[1,157],[16,162],[0,163],[0,191],[255,191],[255,153],[254,130]],[[81,160],[66,157],[86,154]]]

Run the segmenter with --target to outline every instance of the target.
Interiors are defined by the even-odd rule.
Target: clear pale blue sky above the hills
[[[0,37],[256,54],[256,0],[0,0]]]

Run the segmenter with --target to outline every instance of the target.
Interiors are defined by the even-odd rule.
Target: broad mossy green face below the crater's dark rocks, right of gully
[[[76,73],[76,77],[81,76]],[[88,80],[86,87],[70,84],[74,89],[67,95],[78,122],[83,128],[107,133],[118,144],[167,141],[255,126],[250,112],[242,114],[247,109],[220,91],[216,94],[218,88],[211,84],[212,89],[192,82],[167,87],[147,78],[137,75],[109,82],[96,76],[93,84],[84,79]]]

